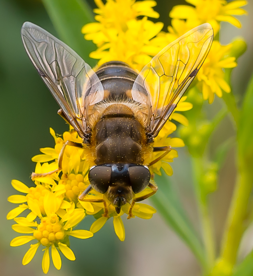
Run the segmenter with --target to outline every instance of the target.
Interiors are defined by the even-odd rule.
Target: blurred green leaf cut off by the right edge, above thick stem
[[[252,173],[253,165],[253,75],[244,96],[238,127],[238,154]]]

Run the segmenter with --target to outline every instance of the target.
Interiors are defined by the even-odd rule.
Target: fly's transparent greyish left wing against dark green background
[[[21,37],[41,78],[69,122],[84,138],[88,110],[104,97],[98,76],[76,52],[41,27],[25,22]]]

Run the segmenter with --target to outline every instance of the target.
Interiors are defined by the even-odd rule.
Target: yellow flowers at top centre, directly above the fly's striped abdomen
[[[135,2],[132,0],[108,0],[104,5],[95,1],[99,22],[86,24],[82,28],[84,38],[92,40],[98,47],[90,57],[99,59],[98,65],[107,61],[120,60],[140,71],[161,48],[150,44],[163,27],[163,23],[153,23],[146,16],[158,18],[152,7],[155,1]],[[144,15],[142,19],[138,16]]]

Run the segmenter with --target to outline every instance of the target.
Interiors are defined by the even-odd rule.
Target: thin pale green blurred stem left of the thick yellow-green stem
[[[200,213],[204,247],[207,258],[207,268],[210,270],[215,260],[215,242],[212,224],[208,213],[207,195],[201,189],[201,176],[203,175],[203,158],[192,156],[193,180]]]

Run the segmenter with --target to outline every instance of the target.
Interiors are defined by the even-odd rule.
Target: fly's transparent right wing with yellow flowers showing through
[[[160,51],[136,78],[132,97],[151,110],[148,122],[151,136],[158,135],[176,108],[203,64],[212,40],[209,23],[197,26]]]

